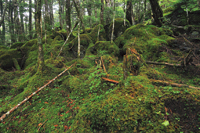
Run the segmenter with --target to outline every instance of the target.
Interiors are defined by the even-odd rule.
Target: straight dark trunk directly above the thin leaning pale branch
[[[71,30],[71,5],[70,5],[70,0],[66,1],[66,30],[67,30],[67,35],[69,35],[70,30]]]

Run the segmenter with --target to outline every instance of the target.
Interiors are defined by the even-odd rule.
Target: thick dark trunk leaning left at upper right
[[[151,9],[153,11],[154,22],[157,26],[162,26],[163,11],[160,8],[158,0],[149,0],[151,4]]]

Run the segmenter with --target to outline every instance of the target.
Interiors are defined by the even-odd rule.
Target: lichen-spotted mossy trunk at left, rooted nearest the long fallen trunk
[[[36,31],[38,39],[38,71],[42,72],[44,67],[44,55],[42,46],[42,33],[41,33],[41,0],[37,0],[36,8]]]

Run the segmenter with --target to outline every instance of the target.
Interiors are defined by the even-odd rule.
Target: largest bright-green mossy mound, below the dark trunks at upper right
[[[172,32],[153,25],[138,24],[128,28],[124,34],[115,41],[117,46],[125,53],[127,48],[133,48],[142,54],[144,59],[155,60],[160,57],[160,48],[169,45],[174,38],[168,36]],[[164,57],[164,56],[163,56]]]

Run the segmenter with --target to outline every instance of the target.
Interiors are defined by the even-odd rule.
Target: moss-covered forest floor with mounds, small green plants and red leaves
[[[80,59],[75,33],[59,57],[66,32],[43,38],[42,73],[37,72],[36,39],[0,49],[0,116],[76,63],[1,121],[0,132],[199,132],[199,90],[153,82],[198,87],[198,68],[146,64],[181,64],[187,57],[173,47],[170,30],[139,24],[127,27],[112,43],[102,25],[88,31],[80,37]],[[11,60],[13,52],[20,69]]]

